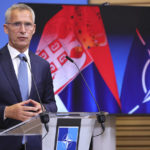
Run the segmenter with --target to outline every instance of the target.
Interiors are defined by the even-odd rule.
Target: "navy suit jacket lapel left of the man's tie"
[[[18,80],[7,46],[3,48],[0,57],[0,65],[2,66],[4,73],[6,74],[8,82],[10,83],[10,86],[12,87],[12,90],[15,93],[17,100],[21,101],[21,93],[18,85]]]

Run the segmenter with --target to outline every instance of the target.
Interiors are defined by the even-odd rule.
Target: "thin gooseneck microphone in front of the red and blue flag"
[[[66,56],[66,59],[68,59],[71,63],[75,64],[75,66],[77,67],[77,69],[78,69],[78,71],[79,71],[79,73],[80,73],[80,75],[81,75],[81,77],[82,77],[82,79],[83,79],[83,81],[84,81],[86,87],[88,88],[88,90],[89,90],[89,92],[90,92],[90,94],[91,94],[91,96],[92,96],[92,98],[93,98],[93,100],[94,100],[94,102],[95,102],[95,104],[96,104],[96,106],[97,106],[97,108],[98,108],[98,111],[99,111],[99,114],[97,114],[97,121],[101,124],[102,130],[103,130],[103,132],[104,132],[104,131],[105,131],[104,122],[105,122],[105,120],[106,120],[105,115],[101,112],[100,107],[99,107],[99,105],[98,105],[98,103],[97,103],[97,101],[96,101],[96,99],[95,99],[95,97],[94,97],[94,95],[93,95],[93,93],[92,93],[92,91],[91,91],[91,89],[90,89],[88,83],[86,82],[86,80],[85,80],[85,78],[84,78],[82,72],[80,71],[80,68],[78,67],[78,65],[77,65],[77,64],[74,62],[74,60],[71,59],[69,56]],[[103,133],[103,132],[102,132],[102,133]]]

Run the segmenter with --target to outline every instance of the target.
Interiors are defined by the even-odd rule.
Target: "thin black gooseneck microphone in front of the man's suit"
[[[38,91],[38,88],[37,88],[37,85],[36,85],[36,82],[35,82],[32,70],[31,70],[31,66],[30,66],[30,64],[29,64],[29,62],[28,62],[28,60],[27,60],[27,58],[25,56],[23,57],[23,60],[28,64],[29,70],[31,72],[33,84],[35,86],[36,93],[37,93],[37,96],[38,96],[38,99],[39,99],[39,102],[40,102],[40,105],[41,105],[41,109],[42,109],[42,113],[39,114],[40,115],[40,120],[44,124],[45,129],[48,132],[49,131],[49,127],[48,127],[47,123],[49,122],[49,115],[48,115],[47,112],[44,111],[43,104],[42,104],[42,101],[41,101],[41,97],[40,97],[40,94],[39,94],[39,91]]]

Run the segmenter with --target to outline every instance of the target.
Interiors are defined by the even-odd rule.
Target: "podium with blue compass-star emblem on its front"
[[[0,136],[40,135],[43,137],[42,150],[89,150],[97,114],[49,113],[48,133],[37,116],[0,132]]]

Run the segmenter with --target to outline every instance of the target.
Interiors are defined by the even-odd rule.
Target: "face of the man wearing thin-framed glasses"
[[[20,52],[24,52],[29,47],[35,28],[32,14],[28,10],[13,10],[8,23],[4,24],[9,44]]]

